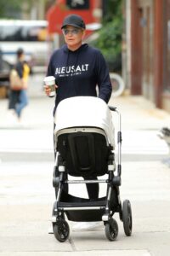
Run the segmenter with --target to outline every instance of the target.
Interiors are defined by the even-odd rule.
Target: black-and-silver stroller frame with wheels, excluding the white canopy
[[[109,107],[111,111],[118,114],[118,131],[117,131],[117,166],[115,163],[115,154],[113,152],[113,147],[108,144],[109,156],[107,160],[107,179],[88,179],[85,180],[68,180],[65,159],[57,151],[57,143],[55,143],[55,163],[54,163],[54,178],[53,186],[56,194],[56,201],[54,202],[53,212],[52,212],[52,224],[54,230],[55,238],[60,241],[66,241],[70,235],[69,224],[65,221],[65,214],[67,218],[71,221],[103,221],[105,225],[105,236],[109,241],[115,241],[118,235],[118,224],[116,219],[112,218],[115,212],[119,213],[119,218],[123,223],[123,228],[126,236],[131,236],[132,234],[132,209],[130,201],[121,201],[120,199],[120,189],[121,186],[121,176],[122,176],[122,165],[121,165],[121,147],[122,147],[122,131],[121,131],[121,113],[119,113],[116,108]],[[99,128],[68,128],[59,131],[58,135],[64,135],[69,133],[74,137],[80,135],[85,135],[88,142],[91,138],[88,137],[88,133],[96,132],[105,136],[105,131]],[[72,139],[72,138],[71,138]],[[91,154],[93,154],[93,147],[91,145]],[[74,151],[74,145],[72,148]],[[73,160],[77,162],[77,160]],[[93,160],[92,160],[93,166]],[[77,183],[107,183],[107,193],[103,198],[96,200],[82,199],[69,195],[65,192],[65,185]]]

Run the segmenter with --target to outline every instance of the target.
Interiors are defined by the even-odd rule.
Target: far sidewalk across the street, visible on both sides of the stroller
[[[122,129],[159,130],[162,126],[170,126],[170,113],[155,108],[152,102],[143,96],[111,97],[109,105],[114,106],[122,114]],[[23,111],[23,120],[17,124],[8,120],[8,100],[0,100],[0,128],[50,129],[53,123],[54,98],[42,94],[30,96],[29,105]]]

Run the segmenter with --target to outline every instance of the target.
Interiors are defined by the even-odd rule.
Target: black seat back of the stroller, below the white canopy
[[[107,172],[109,145],[102,133],[99,129],[95,129],[95,132],[78,129],[76,132],[67,131],[59,135],[57,147],[65,159],[68,174],[97,177]]]

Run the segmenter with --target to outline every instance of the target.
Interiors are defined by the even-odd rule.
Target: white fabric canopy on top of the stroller
[[[98,97],[75,96],[59,102],[54,123],[56,125],[55,136],[57,136],[58,131],[71,127],[100,128],[105,131],[111,146],[115,147],[111,110]]]

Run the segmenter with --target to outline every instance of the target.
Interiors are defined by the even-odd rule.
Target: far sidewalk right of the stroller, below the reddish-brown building
[[[122,113],[122,130],[159,130],[170,126],[170,113],[156,108],[143,96],[121,96],[110,102]]]

